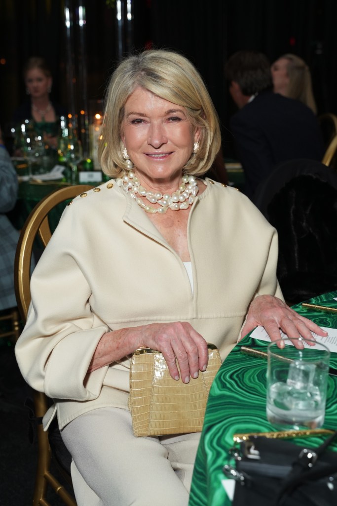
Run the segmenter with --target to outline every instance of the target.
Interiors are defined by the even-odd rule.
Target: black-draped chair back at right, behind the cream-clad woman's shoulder
[[[288,304],[337,288],[337,174],[320,162],[280,164],[256,205],[278,232],[277,277]]]

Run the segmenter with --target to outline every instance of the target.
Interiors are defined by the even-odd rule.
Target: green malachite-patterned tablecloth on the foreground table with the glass
[[[329,292],[310,299],[320,304],[337,297]],[[337,301],[329,304],[337,308]],[[301,304],[294,309],[322,327],[337,328],[337,314],[304,309]],[[233,446],[235,433],[270,432],[276,429],[266,417],[266,369],[267,361],[240,353],[241,346],[253,346],[264,350],[266,342],[246,336],[224,360],[214,379],[192,479],[189,506],[230,506],[222,480],[222,468],[230,462],[228,449]],[[337,367],[337,353],[331,354],[331,366]],[[337,429],[337,377],[329,376],[326,414],[323,428]],[[294,440],[291,440],[294,441]],[[324,437],[298,438],[296,442],[318,446]],[[337,451],[337,442],[331,445]]]

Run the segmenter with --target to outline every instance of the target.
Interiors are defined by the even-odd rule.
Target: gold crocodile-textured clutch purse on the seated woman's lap
[[[208,345],[208,366],[185,384],[170,376],[163,355],[140,348],[132,355],[129,409],[135,436],[200,432],[213,379],[221,365],[218,349]]]

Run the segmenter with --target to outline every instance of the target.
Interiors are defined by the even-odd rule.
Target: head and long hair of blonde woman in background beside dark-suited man
[[[274,92],[294,98],[317,113],[308,65],[296,55],[280,56],[271,66]]]

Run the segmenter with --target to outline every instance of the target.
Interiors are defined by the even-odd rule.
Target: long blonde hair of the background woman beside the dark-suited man
[[[287,97],[300,100],[316,114],[317,108],[312,91],[311,73],[308,65],[302,58],[291,53],[280,56],[279,59],[280,58],[285,58],[288,61],[286,67],[289,77]]]

